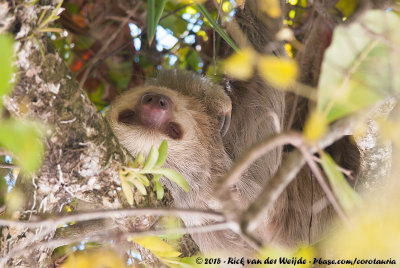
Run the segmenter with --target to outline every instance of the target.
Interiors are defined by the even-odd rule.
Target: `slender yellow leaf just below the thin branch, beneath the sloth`
[[[179,251],[176,251],[171,245],[157,236],[145,236],[133,239],[129,238],[128,240],[147,248],[159,258],[171,258],[181,255]]]

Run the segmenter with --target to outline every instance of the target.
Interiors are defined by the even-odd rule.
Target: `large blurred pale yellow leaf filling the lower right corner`
[[[382,185],[381,185],[382,186]],[[348,267],[398,267],[361,263],[360,260],[397,260],[400,248],[399,187],[389,184],[383,191],[370,193],[364,207],[351,214],[348,228],[337,228],[323,246],[329,249],[327,258],[359,261]],[[345,241],[345,242],[344,242]],[[383,263],[381,263],[383,264]],[[386,264],[390,264],[387,262]],[[338,266],[339,267],[339,266]]]

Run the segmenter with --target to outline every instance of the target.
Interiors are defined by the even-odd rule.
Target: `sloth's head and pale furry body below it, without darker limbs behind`
[[[190,189],[186,193],[175,183],[161,180],[176,207],[219,210],[214,184],[232,164],[222,140],[229,129],[231,109],[231,100],[221,86],[194,73],[170,70],[122,94],[111,105],[107,119],[132,155],[168,141],[165,166],[180,172]],[[198,217],[183,216],[182,220],[186,226],[207,223]],[[230,245],[239,254],[248,247],[230,231],[192,237],[203,252]]]

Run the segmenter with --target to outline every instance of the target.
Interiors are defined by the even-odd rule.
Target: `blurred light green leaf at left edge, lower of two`
[[[17,164],[25,172],[37,170],[42,163],[44,128],[23,120],[2,120],[0,124],[0,146],[17,156]]]

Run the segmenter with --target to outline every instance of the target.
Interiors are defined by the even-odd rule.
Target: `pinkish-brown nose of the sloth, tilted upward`
[[[172,117],[172,101],[162,94],[146,93],[140,100],[139,113],[145,126],[161,127]]]

